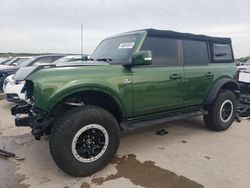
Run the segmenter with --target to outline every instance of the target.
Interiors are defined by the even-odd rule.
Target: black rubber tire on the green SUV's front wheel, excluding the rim
[[[106,129],[109,143],[100,158],[93,162],[81,162],[72,152],[72,140],[76,133],[89,124],[99,124]],[[117,152],[120,143],[120,128],[117,120],[108,111],[86,105],[76,107],[61,116],[51,129],[50,152],[55,163],[65,173],[84,177],[104,168]]]

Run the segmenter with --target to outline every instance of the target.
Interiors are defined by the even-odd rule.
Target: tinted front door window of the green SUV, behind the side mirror
[[[177,40],[160,37],[147,37],[141,50],[151,50],[153,56],[152,66],[177,65]]]

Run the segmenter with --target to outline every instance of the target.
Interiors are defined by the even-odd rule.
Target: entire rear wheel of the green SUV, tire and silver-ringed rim
[[[222,90],[215,101],[208,107],[204,121],[208,128],[215,131],[228,129],[236,116],[237,99],[232,91]]]

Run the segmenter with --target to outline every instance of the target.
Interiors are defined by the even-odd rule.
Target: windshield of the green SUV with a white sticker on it
[[[103,40],[96,48],[91,59],[110,59],[111,61],[128,61],[139,35],[127,35]]]

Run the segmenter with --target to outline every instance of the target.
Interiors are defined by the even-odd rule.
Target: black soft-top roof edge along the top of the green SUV
[[[196,35],[191,33],[179,33],[169,30],[156,30],[156,29],[145,29],[149,36],[162,36],[162,37],[172,37],[172,38],[183,38],[183,39],[193,39],[193,40],[205,40],[214,43],[221,44],[231,44],[231,38],[222,37],[211,37],[206,35]]]

